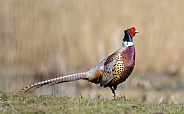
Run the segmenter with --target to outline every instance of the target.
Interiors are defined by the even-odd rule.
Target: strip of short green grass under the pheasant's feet
[[[0,92],[0,112],[7,114],[20,113],[48,113],[48,114],[118,114],[118,113],[184,113],[184,105],[181,104],[156,104],[135,100],[118,98],[110,99],[86,99],[56,97],[52,95],[34,94],[10,94]]]

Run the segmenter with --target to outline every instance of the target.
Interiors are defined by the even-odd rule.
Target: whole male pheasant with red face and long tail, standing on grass
[[[112,55],[102,60],[91,70],[31,84],[19,92],[27,92],[31,88],[39,88],[47,84],[54,85],[84,79],[95,84],[100,84],[101,87],[110,87],[115,98],[115,90],[117,85],[124,82],[134,69],[135,48],[133,44],[133,37],[136,33],[138,33],[138,31],[135,27],[125,30],[122,47]]]

